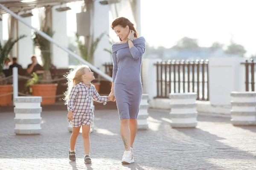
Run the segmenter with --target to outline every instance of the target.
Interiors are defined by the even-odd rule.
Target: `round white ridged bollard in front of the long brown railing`
[[[196,97],[197,93],[169,94],[169,99],[171,99],[170,119],[172,120],[172,127],[197,126]]]

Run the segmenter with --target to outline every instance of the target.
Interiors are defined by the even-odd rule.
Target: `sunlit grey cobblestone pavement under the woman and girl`
[[[256,127],[234,127],[228,118],[198,116],[198,127],[173,129],[168,111],[150,110],[149,129],[138,131],[135,163],[122,165],[124,151],[116,110],[95,111],[90,134],[93,164],[68,160],[66,112],[43,112],[42,133],[14,134],[14,113],[0,113],[0,170],[256,170]]]

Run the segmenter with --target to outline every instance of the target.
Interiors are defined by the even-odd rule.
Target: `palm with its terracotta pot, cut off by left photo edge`
[[[7,85],[6,76],[3,74],[3,64],[4,61],[8,58],[9,53],[11,52],[13,46],[20,39],[26,37],[26,35],[22,35],[18,37],[16,40],[12,40],[9,38],[3,45],[0,42],[0,105],[10,105],[12,102],[12,85]],[[8,95],[9,94],[9,95]]]

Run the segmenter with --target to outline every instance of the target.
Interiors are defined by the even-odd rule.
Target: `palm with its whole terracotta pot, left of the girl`
[[[54,34],[49,27],[47,27],[46,29],[42,29],[42,31],[44,31],[50,37],[52,37]],[[30,87],[33,96],[42,96],[41,105],[52,105],[55,104],[55,96],[58,84],[51,83],[51,42],[46,40],[37,32],[34,32],[33,42],[34,45],[41,50],[41,58],[43,61],[44,73],[41,75],[41,77],[38,76],[36,73],[33,73],[32,79],[29,79],[26,85]]]

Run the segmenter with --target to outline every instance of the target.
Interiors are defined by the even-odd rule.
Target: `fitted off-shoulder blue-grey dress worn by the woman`
[[[145,38],[112,45],[114,95],[120,119],[137,119],[142,98],[140,77]]]

